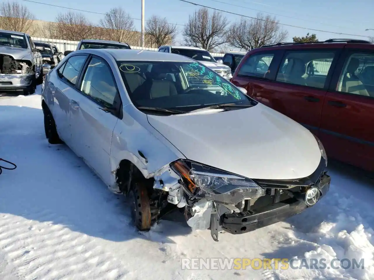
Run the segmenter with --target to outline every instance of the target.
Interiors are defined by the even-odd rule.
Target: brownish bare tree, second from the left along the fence
[[[80,13],[59,13],[56,17],[56,33],[62,40],[79,41],[99,36],[98,29]]]

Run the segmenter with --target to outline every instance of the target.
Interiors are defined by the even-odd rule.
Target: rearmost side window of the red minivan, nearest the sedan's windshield
[[[265,78],[273,57],[273,53],[252,55],[246,59],[237,75]]]

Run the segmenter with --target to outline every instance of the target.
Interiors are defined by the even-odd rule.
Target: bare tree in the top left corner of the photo
[[[29,32],[35,16],[17,2],[3,2],[0,6],[1,28],[12,31]]]

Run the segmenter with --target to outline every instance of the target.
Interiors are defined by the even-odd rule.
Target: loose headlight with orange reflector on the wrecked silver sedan
[[[187,160],[172,162],[188,190],[196,198],[236,205],[243,199],[265,195],[265,190],[253,180]]]

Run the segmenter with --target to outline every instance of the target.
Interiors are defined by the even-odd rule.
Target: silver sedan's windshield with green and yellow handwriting
[[[190,112],[228,103],[244,108],[253,106],[255,102],[229,81],[198,62],[117,63],[129,97],[137,107]]]

